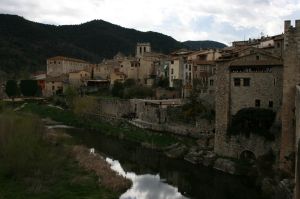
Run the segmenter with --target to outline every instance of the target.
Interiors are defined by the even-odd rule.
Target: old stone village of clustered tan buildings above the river
[[[46,73],[32,75],[41,97],[70,88],[97,94],[95,115],[194,138],[198,148],[177,146],[169,156],[183,152],[187,161],[228,173],[239,172],[234,160],[272,157],[271,170],[285,176],[277,188],[300,197],[300,20],[285,21],[283,34],[223,49],[166,55],[137,43],[135,56],[120,52],[98,64],[64,56],[46,62]],[[272,184],[266,176],[265,186]]]

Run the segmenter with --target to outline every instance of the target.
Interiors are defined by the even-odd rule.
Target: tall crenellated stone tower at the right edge
[[[280,168],[293,173],[295,152],[295,93],[300,83],[300,20],[284,23],[284,69]]]

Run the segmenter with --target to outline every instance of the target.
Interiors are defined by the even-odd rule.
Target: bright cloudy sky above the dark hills
[[[300,19],[300,0],[0,0],[0,13],[47,24],[103,19],[179,41],[257,38]]]

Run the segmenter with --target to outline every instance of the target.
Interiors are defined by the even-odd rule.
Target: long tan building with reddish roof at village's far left
[[[47,59],[47,75],[60,76],[70,72],[88,69],[89,65],[90,64],[84,60],[56,56]]]

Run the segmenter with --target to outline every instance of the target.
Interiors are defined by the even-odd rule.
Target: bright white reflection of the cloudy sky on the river
[[[136,175],[133,172],[125,172],[117,160],[106,158],[111,168],[120,175],[130,179],[132,187],[125,192],[120,199],[185,199],[176,187],[164,183],[157,175]]]

